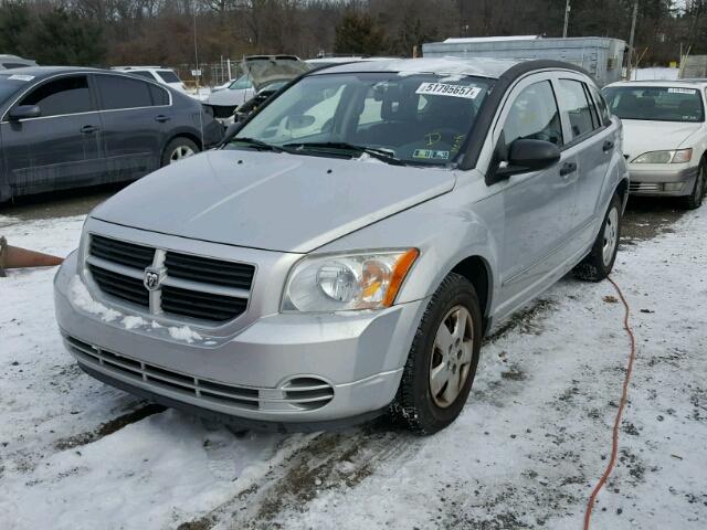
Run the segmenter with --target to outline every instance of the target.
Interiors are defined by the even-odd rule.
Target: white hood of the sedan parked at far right
[[[703,125],[639,119],[622,119],[621,121],[623,123],[623,152],[629,157],[629,160],[648,151],[690,147],[685,141]]]

